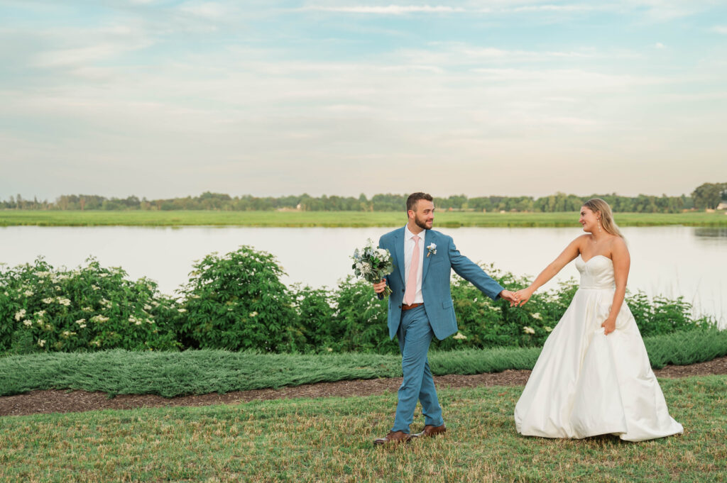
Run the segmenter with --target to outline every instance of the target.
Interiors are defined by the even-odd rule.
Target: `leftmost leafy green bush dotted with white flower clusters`
[[[0,270],[0,352],[175,349],[172,311],[150,280],[95,259],[74,270],[41,258]]]

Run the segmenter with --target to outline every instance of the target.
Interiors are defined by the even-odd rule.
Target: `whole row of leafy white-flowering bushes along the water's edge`
[[[484,267],[503,286],[528,280]],[[172,299],[156,283],[129,280],[121,268],[54,269],[44,259],[0,270],[0,354],[106,349],[228,349],[276,353],[398,353],[388,340],[385,300],[369,283],[348,277],[336,288],[286,287],[270,253],[242,246],[194,265]],[[539,347],[568,307],[577,283],[537,293],[524,307],[491,301],[455,276],[451,284],[459,333],[434,348]],[[714,326],[691,317],[678,298],[627,296],[643,336]]]

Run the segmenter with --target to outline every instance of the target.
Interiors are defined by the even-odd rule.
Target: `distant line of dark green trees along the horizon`
[[[406,206],[409,194],[380,194],[370,199],[361,194],[358,198],[343,196],[320,197],[302,194],[298,196],[256,197],[242,195],[232,197],[224,193],[204,192],[199,196],[158,200],[128,198],[105,198],[100,195],[61,195],[55,202],[26,200],[21,195],[10,196],[0,201],[0,208],[20,210],[109,210],[109,211],[170,211],[170,210],[217,210],[217,211],[401,211]],[[434,198],[440,210],[464,211],[531,211],[556,212],[578,211],[589,198],[603,198],[614,211],[632,213],[678,213],[691,209],[717,208],[727,200],[727,183],[704,183],[696,187],[691,196],[620,196],[606,195],[577,196],[557,192],[554,195],[534,198],[532,196],[481,196],[467,198],[465,195],[451,195],[449,198]]]

